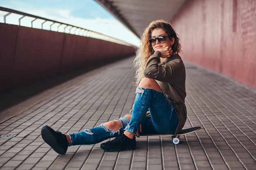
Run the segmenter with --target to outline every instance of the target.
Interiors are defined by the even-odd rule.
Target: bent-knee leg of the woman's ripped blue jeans
[[[148,110],[150,117],[145,117]],[[179,120],[168,96],[163,91],[137,87],[132,116],[125,130],[136,134],[140,124],[141,134],[173,134],[175,132]]]

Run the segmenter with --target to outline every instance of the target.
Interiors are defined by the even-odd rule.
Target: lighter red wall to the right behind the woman
[[[184,60],[256,89],[255,0],[188,0],[171,23]]]

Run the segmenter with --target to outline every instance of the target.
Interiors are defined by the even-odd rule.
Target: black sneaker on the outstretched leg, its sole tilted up
[[[41,129],[41,135],[44,141],[58,154],[64,155],[67,152],[67,138],[61,132],[55,131],[49,126],[43,126]]]

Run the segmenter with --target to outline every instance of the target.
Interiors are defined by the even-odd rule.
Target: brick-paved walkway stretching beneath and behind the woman
[[[69,147],[65,155],[45,144],[40,136],[43,125],[71,133],[128,113],[135,97],[131,63],[128,58],[96,68],[23,101],[17,98],[35,87],[1,95],[2,103],[21,102],[0,112],[0,169],[256,169],[255,90],[189,63],[185,128],[202,129],[182,136],[180,144],[174,145],[171,137],[139,137],[136,150],[104,152],[96,144]]]

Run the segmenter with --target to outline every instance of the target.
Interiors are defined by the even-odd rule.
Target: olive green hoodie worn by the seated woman
[[[161,53],[155,51],[149,57],[144,69],[144,75],[155,79],[164,94],[168,95],[179,119],[179,125],[175,132],[177,134],[182,130],[186,121],[185,66],[178,54],[171,55],[164,62],[160,62],[160,56]]]

